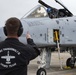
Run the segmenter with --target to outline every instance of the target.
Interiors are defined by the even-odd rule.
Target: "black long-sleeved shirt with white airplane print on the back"
[[[27,42],[7,38],[0,43],[0,75],[27,75],[29,61],[40,54],[32,39]]]

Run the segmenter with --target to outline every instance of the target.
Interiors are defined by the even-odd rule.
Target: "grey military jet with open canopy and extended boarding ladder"
[[[27,44],[25,35],[30,32],[34,42],[41,50],[39,58],[39,69],[37,75],[41,72],[46,75],[45,68],[49,68],[51,60],[51,52],[58,50],[60,67],[60,50],[69,50],[71,57],[67,59],[66,66],[74,68],[76,57],[76,17],[58,0],[56,3],[63,8],[53,8],[43,1],[38,1],[40,5],[33,8],[25,16],[21,18],[23,33],[19,37],[20,41]],[[4,27],[0,28],[0,42],[5,36]]]

